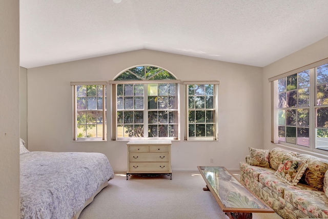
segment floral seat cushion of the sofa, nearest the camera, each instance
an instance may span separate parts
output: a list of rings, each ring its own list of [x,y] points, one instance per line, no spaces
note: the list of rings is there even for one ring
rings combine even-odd
[[[284,199],[310,218],[328,218],[328,197],[321,191],[285,189]]]

